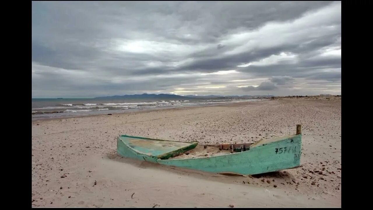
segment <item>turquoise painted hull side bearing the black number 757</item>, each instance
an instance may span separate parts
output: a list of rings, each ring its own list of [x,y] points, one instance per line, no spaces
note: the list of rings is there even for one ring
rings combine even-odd
[[[214,173],[254,175],[300,166],[301,136],[261,142],[249,151],[216,157],[157,160],[157,163]]]

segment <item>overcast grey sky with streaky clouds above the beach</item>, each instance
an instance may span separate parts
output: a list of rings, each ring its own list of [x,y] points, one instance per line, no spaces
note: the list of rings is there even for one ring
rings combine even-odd
[[[341,2],[32,2],[32,97],[341,94]]]

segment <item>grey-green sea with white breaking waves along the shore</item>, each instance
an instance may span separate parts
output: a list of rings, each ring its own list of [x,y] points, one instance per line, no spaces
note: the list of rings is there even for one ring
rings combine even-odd
[[[212,106],[260,99],[188,98],[170,99],[32,99],[32,120],[70,116],[133,112],[187,106]]]

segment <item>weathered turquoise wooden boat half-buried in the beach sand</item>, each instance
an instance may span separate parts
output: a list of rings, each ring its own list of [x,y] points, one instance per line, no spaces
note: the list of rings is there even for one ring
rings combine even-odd
[[[167,166],[222,174],[254,175],[300,166],[301,125],[295,135],[262,139],[256,143],[198,145],[121,135],[120,156]]]

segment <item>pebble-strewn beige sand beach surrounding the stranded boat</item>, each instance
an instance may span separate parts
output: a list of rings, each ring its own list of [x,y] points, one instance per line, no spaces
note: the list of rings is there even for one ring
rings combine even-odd
[[[34,121],[32,207],[341,207],[341,98],[319,98]],[[244,143],[293,134],[296,124],[302,167],[261,176],[116,155],[120,134]]]

